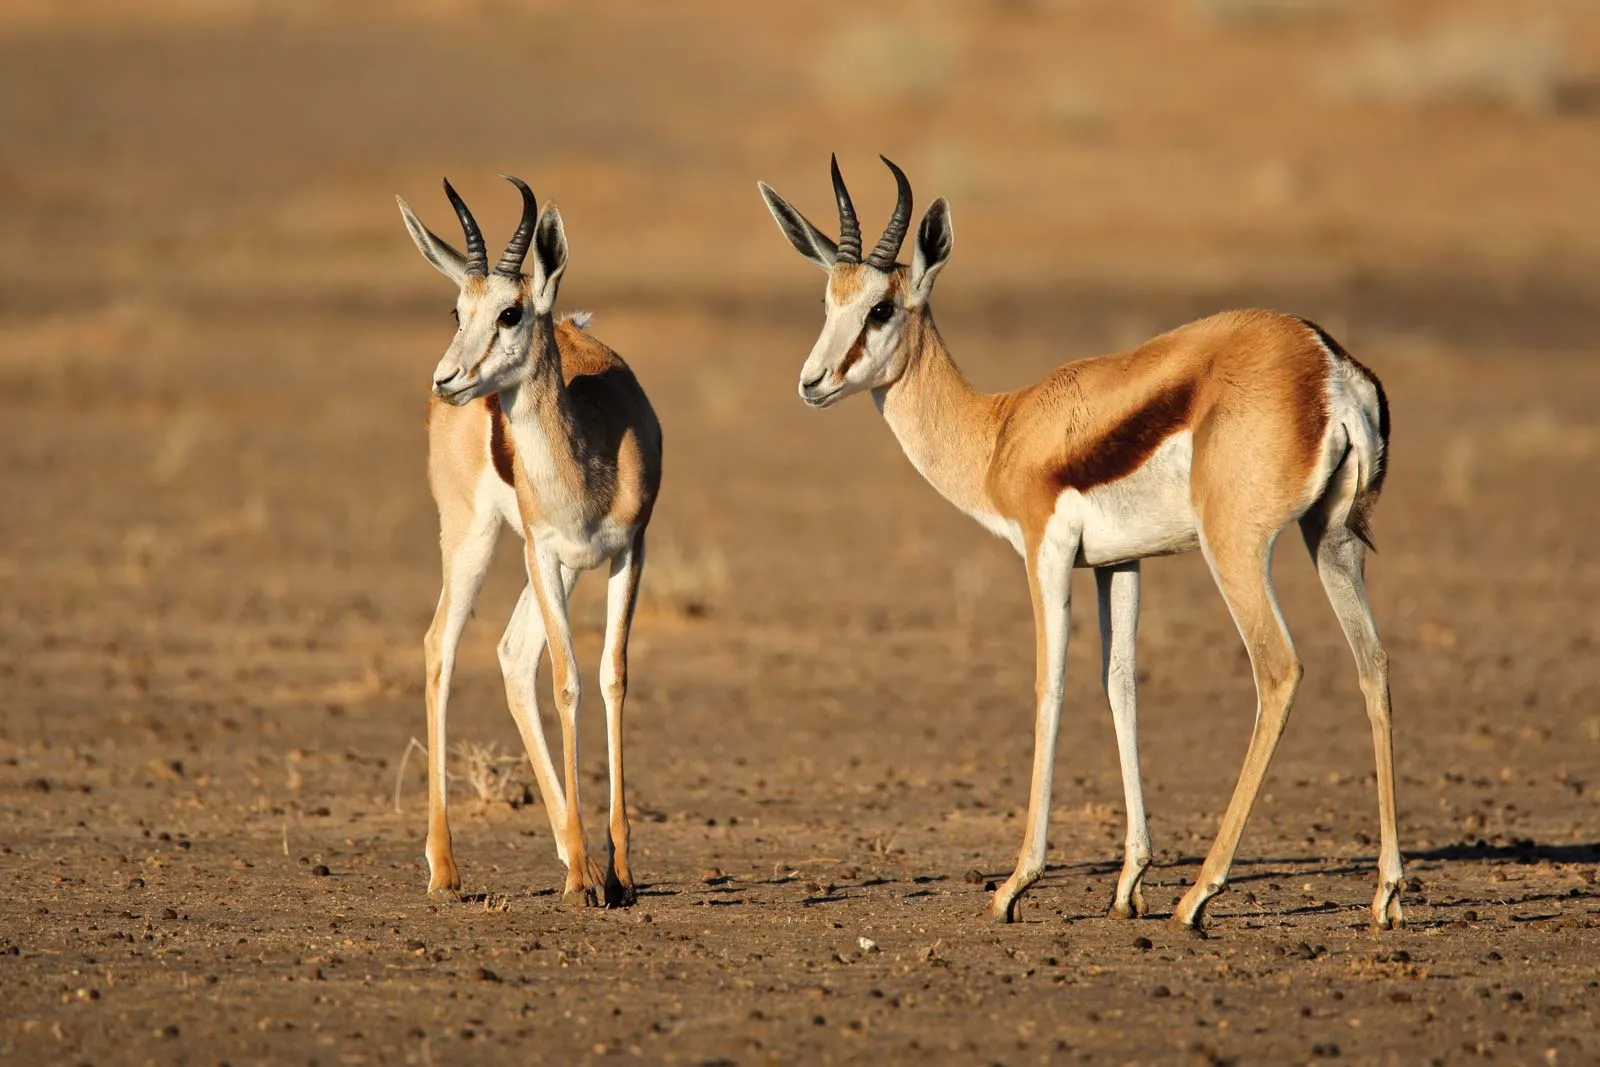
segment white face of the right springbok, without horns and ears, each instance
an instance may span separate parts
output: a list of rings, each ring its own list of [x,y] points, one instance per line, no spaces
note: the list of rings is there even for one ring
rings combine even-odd
[[[822,294],[822,333],[800,368],[800,398],[829,408],[851,394],[891,386],[906,370],[906,272],[834,264]]]

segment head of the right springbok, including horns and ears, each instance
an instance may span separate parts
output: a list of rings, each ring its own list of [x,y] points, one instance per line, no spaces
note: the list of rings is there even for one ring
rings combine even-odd
[[[894,261],[910,224],[910,182],[894,163],[886,158],[883,163],[894,174],[899,195],[883,237],[866,259],[861,258],[861,224],[838,173],[838,157],[832,160],[838,243],[766,182],[757,182],[789,243],[827,272],[822,333],[800,368],[800,398],[813,408],[832,406],[864,389],[883,389],[906,373],[912,326],[926,317],[933,280],[950,258],[950,205],[939,197],[917,227],[910,267]]]

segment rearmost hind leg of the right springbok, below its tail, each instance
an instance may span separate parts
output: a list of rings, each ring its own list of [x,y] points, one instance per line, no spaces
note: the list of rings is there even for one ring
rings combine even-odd
[[[1403,921],[1400,881],[1400,832],[1395,827],[1395,753],[1389,717],[1389,654],[1378,641],[1373,608],[1366,603],[1363,566],[1366,545],[1342,523],[1323,526],[1317,518],[1301,522],[1306,547],[1317,561],[1317,574],[1328,593],[1333,613],[1339,616],[1344,637],[1355,654],[1355,670],[1366,697],[1366,718],[1373,725],[1373,750],[1378,760],[1378,893],[1373,896],[1373,923],[1389,929]]]

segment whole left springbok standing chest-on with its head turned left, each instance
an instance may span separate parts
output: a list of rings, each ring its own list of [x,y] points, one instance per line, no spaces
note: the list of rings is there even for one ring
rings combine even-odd
[[[445,709],[461,630],[483,587],[501,523],[523,539],[528,584],[499,643],[506,699],[522,731],[539,793],[566,864],[566,897],[610,905],[634,901],[622,789],[622,701],[627,637],[645,568],[645,525],[661,486],[661,426],[627,365],[595,341],[587,317],[555,320],[566,269],[566,230],[555,205],[542,213],[528,186],[522,222],[494,270],[483,232],[445,182],[467,251],[422,226],[405,200],[400,214],[422,258],[459,286],[456,336],[434,371],[427,410],[429,485],[438,504],[445,577],[427,629],[427,865],[429,894],[461,891],[445,809]],[[398,198],[397,198],[398,200]],[[522,270],[533,245],[533,275]],[[610,864],[589,859],[578,803],[578,661],[566,600],[579,571],[610,565],[600,694],[611,773]],[[539,723],[534,683],[546,638],[562,721],[565,790]]]

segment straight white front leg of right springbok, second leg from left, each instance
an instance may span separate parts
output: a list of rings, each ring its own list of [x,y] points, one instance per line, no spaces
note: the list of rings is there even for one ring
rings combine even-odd
[[[1144,872],[1150,865],[1150,827],[1139,782],[1139,707],[1134,693],[1134,645],[1139,630],[1139,561],[1094,568],[1101,616],[1101,685],[1117,728],[1122,795],[1128,806],[1128,840],[1122,877],[1110,902],[1112,918],[1144,915]]]

